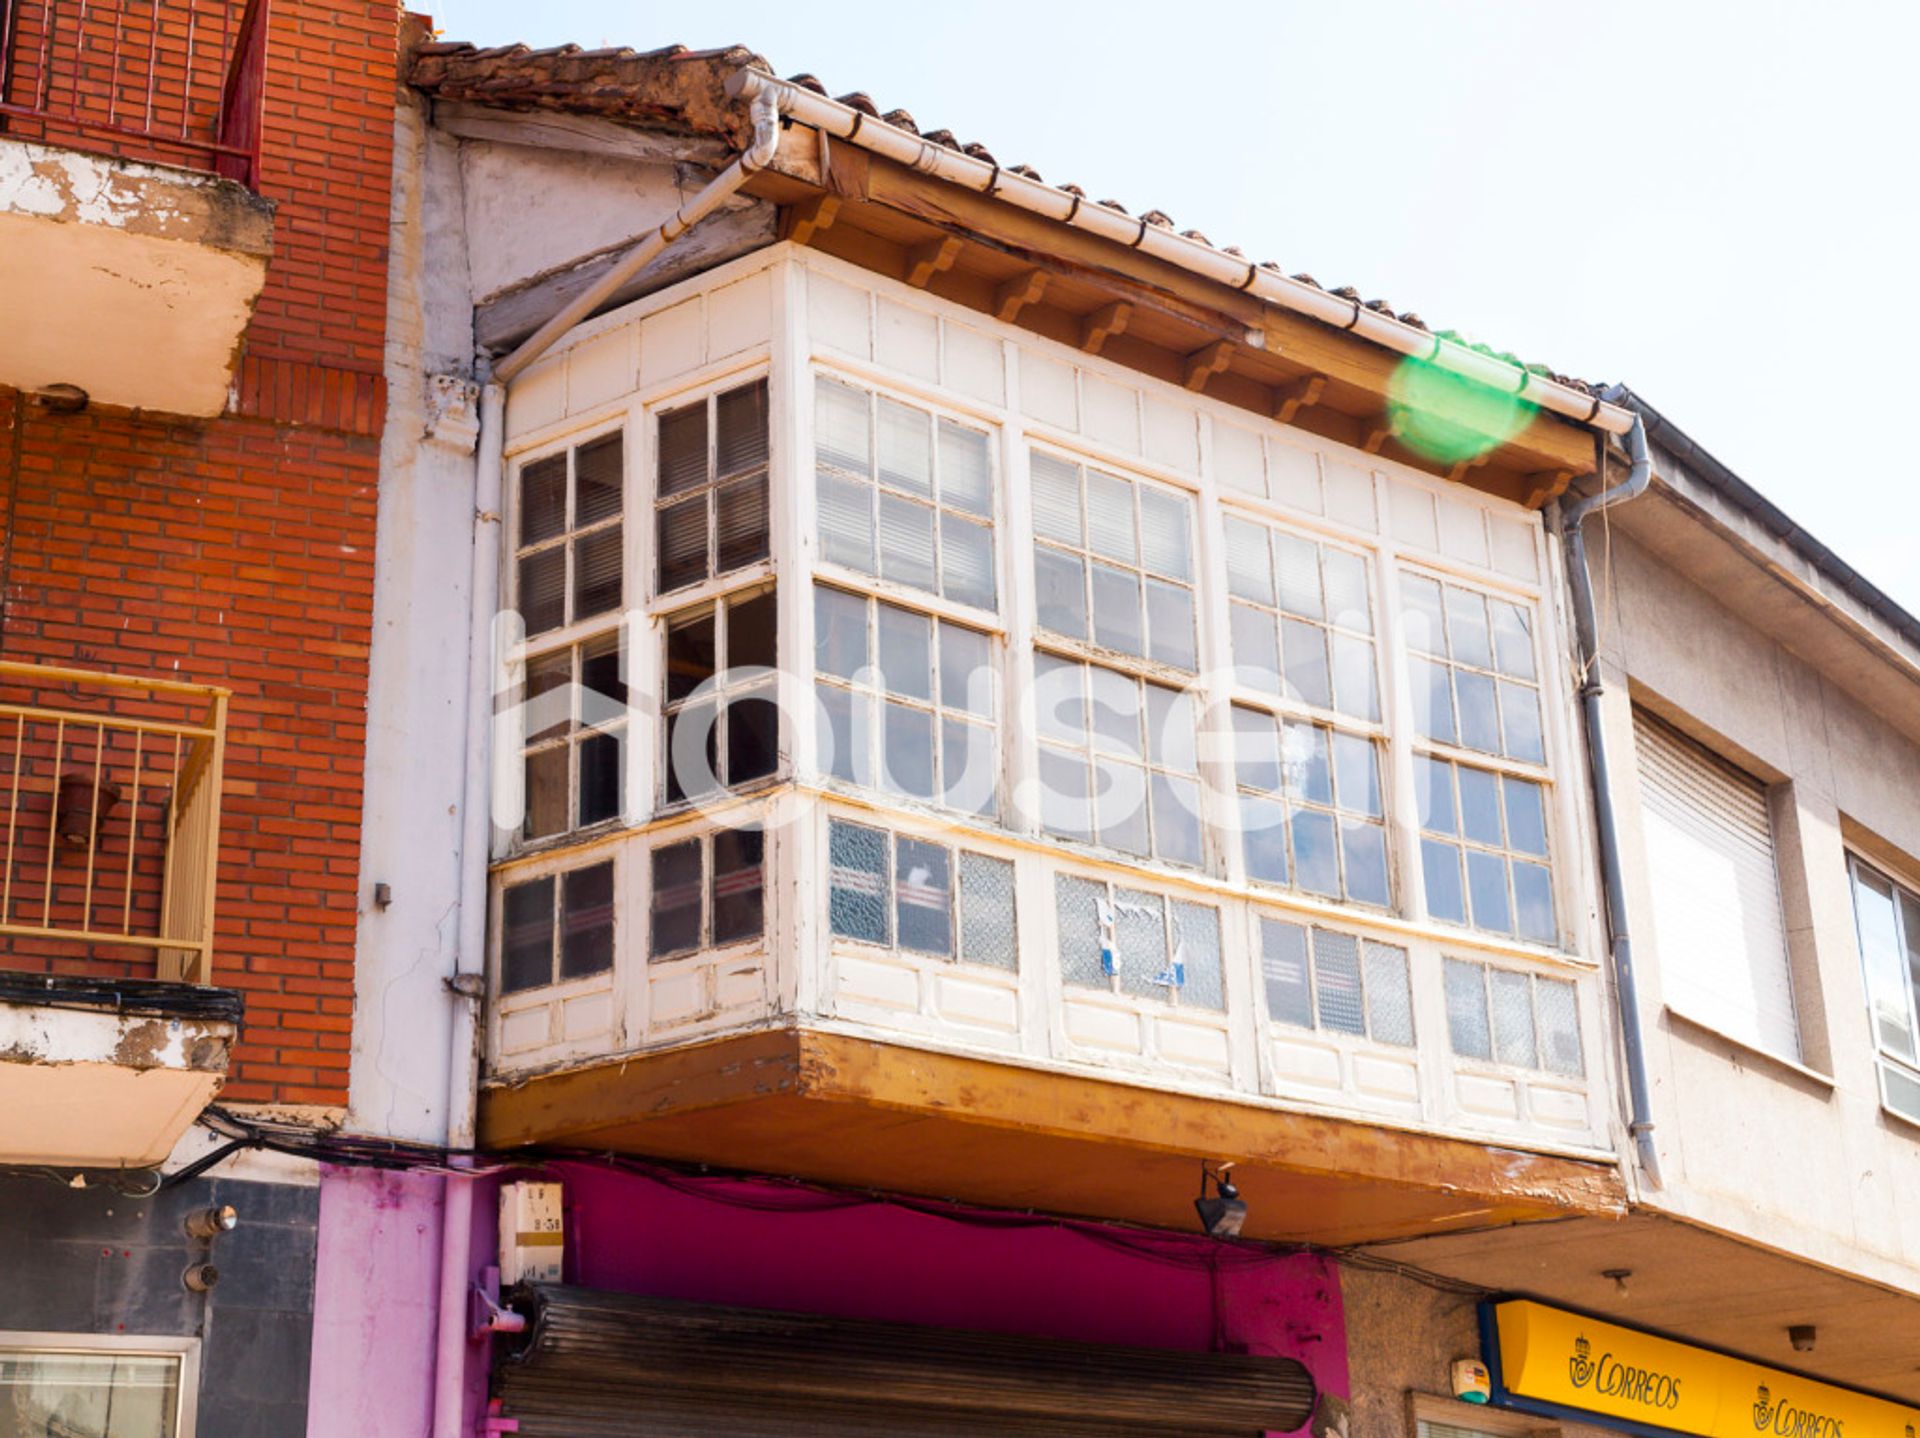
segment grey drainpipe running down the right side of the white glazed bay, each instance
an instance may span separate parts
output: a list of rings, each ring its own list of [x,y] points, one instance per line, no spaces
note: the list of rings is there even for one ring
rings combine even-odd
[[[1620,386],[1607,390],[1607,399],[1622,395]],[[1597,443],[1605,445],[1605,438]],[[1620,874],[1620,829],[1613,812],[1613,779],[1607,770],[1607,737],[1601,724],[1599,699],[1599,620],[1594,609],[1594,576],[1586,566],[1586,534],[1582,522],[1603,509],[1624,505],[1645,493],[1653,482],[1653,459],[1647,451],[1647,428],[1634,415],[1626,432],[1626,455],[1632,468],[1626,480],[1588,495],[1561,516],[1561,538],[1567,543],[1567,582],[1572,589],[1574,639],[1580,651],[1580,716],[1586,724],[1586,755],[1594,781],[1594,822],[1599,829],[1599,877],[1607,891],[1607,933],[1613,952],[1613,993],[1620,1018],[1620,1044],[1626,1050],[1626,1096],[1632,1114],[1626,1131],[1634,1135],[1640,1167],[1657,1188],[1661,1158],[1653,1144],[1653,1104],[1647,1094],[1647,1054],[1640,1033],[1640,985],[1634,977],[1634,941],[1626,927],[1626,881]]]

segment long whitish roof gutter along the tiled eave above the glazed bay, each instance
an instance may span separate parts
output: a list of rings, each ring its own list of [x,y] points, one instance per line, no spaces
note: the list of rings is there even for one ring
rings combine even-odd
[[[1171,228],[1148,225],[1144,219],[1121,215],[1117,209],[1083,200],[1077,194],[1056,190],[1025,175],[989,159],[975,159],[958,150],[948,150],[933,140],[924,140],[910,131],[874,119],[839,100],[828,100],[799,84],[774,79],[755,69],[737,71],[728,81],[730,94],[755,100],[762,94],[780,96],[780,108],[801,121],[828,134],[885,156],[922,175],[977,190],[993,200],[1004,200],[1044,219],[1071,225],[1073,228],[1098,234],[1102,240],[1139,250],[1142,255],[1164,259],[1185,271],[1200,275],[1231,290],[1258,296],[1281,309],[1317,319],[1336,330],[1348,330],[1361,340],[1371,340],[1384,349],[1425,359],[1444,371],[1476,380],[1492,390],[1515,394],[1530,405],[1563,415],[1580,424],[1592,424],[1607,434],[1626,434],[1634,428],[1634,417],[1620,405],[1611,405],[1584,390],[1574,390],[1559,380],[1511,365],[1478,349],[1442,340],[1415,324],[1367,309],[1359,300],[1344,300],[1317,286],[1294,280],[1279,271],[1263,269],[1238,255],[1229,255],[1200,240],[1188,240]]]

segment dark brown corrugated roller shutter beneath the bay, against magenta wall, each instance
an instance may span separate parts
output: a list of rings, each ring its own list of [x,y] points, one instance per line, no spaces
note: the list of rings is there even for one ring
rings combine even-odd
[[[1181,1354],[534,1286],[493,1363],[522,1438],[1258,1438],[1313,1413],[1284,1357]]]

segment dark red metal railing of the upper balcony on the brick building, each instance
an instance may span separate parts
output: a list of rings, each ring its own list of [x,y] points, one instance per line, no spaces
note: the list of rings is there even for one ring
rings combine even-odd
[[[0,0],[15,138],[190,165],[259,188],[267,0]]]

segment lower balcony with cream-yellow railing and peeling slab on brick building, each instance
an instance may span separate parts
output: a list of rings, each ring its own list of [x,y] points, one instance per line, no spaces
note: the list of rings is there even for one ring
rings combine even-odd
[[[0,662],[0,1163],[157,1163],[219,1090],[225,735],[225,689]]]

